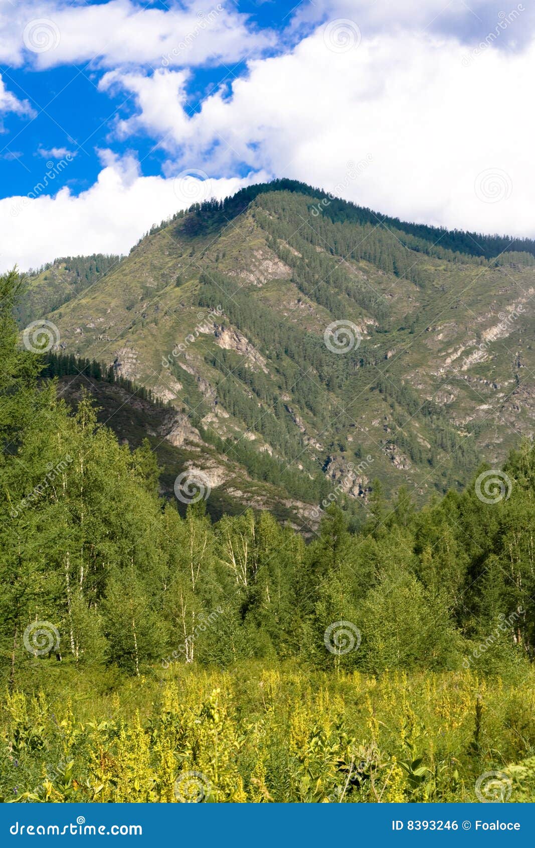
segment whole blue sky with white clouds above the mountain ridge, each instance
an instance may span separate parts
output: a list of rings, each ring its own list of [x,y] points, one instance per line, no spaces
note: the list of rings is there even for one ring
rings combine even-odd
[[[274,176],[533,236],[533,17],[488,0],[0,0],[0,268],[125,252],[192,199]]]

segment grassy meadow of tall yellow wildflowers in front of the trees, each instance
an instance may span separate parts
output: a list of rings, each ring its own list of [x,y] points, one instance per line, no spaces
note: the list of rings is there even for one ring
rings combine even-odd
[[[36,661],[3,700],[4,801],[534,801],[535,675]],[[31,692],[36,692],[32,695]]]

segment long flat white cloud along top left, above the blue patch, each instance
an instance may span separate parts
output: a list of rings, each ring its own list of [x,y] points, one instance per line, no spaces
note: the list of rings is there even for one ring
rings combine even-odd
[[[0,0],[0,3],[2,0]],[[180,67],[242,59],[275,36],[255,31],[231,3],[170,3],[168,10],[133,0],[73,6],[66,0],[25,0],[2,14],[0,61],[45,69],[95,60],[102,67]]]

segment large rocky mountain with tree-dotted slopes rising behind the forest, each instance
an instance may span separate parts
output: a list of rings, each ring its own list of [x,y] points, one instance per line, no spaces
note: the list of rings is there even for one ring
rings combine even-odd
[[[408,224],[275,181],[154,226],[76,291],[59,271],[31,288],[67,371],[98,360],[169,404],[154,426],[143,416],[157,407],[135,399],[137,441],[181,452],[162,460],[169,481],[201,469],[211,499],[246,504],[256,488],[256,505],[276,501],[294,523],[331,494],[359,522],[373,481],[425,500],[532,435],[534,266],[528,239]]]

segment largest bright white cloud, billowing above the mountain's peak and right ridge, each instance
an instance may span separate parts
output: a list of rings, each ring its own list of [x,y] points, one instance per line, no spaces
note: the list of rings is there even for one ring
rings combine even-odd
[[[231,175],[245,164],[343,186],[344,197],[405,219],[535,235],[535,45],[476,55],[453,39],[405,33],[363,36],[345,50],[329,33],[320,27],[292,53],[250,62],[231,98],[216,92],[192,117],[180,71],[115,71],[102,86],[134,92],[139,114],[118,130],[151,133],[179,167]],[[347,163],[367,157],[371,165],[348,180]],[[510,181],[501,203],[475,189],[487,170]]]

